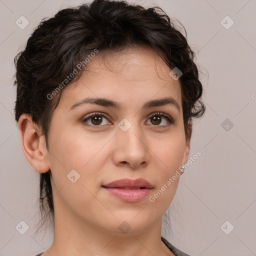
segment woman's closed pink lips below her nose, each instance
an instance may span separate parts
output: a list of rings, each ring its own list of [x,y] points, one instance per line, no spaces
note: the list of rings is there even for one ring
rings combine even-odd
[[[137,202],[147,197],[153,186],[142,178],[137,179],[118,179],[102,187],[110,194],[126,202]]]

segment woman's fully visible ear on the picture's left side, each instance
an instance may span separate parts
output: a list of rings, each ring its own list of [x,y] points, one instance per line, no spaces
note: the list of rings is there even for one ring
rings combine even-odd
[[[38,125],[32,121],[32,116],[27,113],[20,115],[18,129],[23,153],[27,161],[38,172],[47,172],[47,149],[45,136],[40,134]]]

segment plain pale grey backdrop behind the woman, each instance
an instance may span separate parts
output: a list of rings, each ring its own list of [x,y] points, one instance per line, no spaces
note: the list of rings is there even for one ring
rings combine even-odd
[[[88,1],[0,0],[0,255],[34,255],[52,242],[50,228],[33,234],[39,173],[23,155],[14,121],[13,58],[43,17],[82,2]],[[172,234],[162,234],[192,256],[256,255],[256,0],[136,3],[156,4],[184,25],[206,105],[191,138],[190,156],[201,156],[181,176],[169,207]],[[29,22],[23,29],[15,23],[20,16]],[[15,228],[21,220],[29,226],[24,234]]]

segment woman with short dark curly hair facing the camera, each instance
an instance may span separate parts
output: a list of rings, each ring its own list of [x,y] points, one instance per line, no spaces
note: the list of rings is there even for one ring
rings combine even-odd
[[[58,11],[15,57],[22,150],[40,173],[37,255],[188,255],[161,220],[189,155],[202,85],[159,8],[94,0]]]

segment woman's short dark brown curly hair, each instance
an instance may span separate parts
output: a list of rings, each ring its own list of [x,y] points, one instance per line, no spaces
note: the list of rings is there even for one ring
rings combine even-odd
[[[175,28],[160,7],[145,8],[126,1],[93,0],[90,4],[59,10],[54,17],[40,22],[25,49],[14,58],[15,120],[18,121],[22,113],[31,114],[47,145],[51,115],[61,91],[52,99],[46,95],[94,49],[117,51],[132,44],[150,46],[171,69],[177,67],[182,71],[179,81],[183,122],[185,136],[190,137],[191,120],[203,115],[205,105],[200,99],[202,84],[186,34],[184,37]],[[71,81],[78,79],[81,72],[82,69]],[[54,215],[49,171],[40,173],[42,224],[49,213]]]

